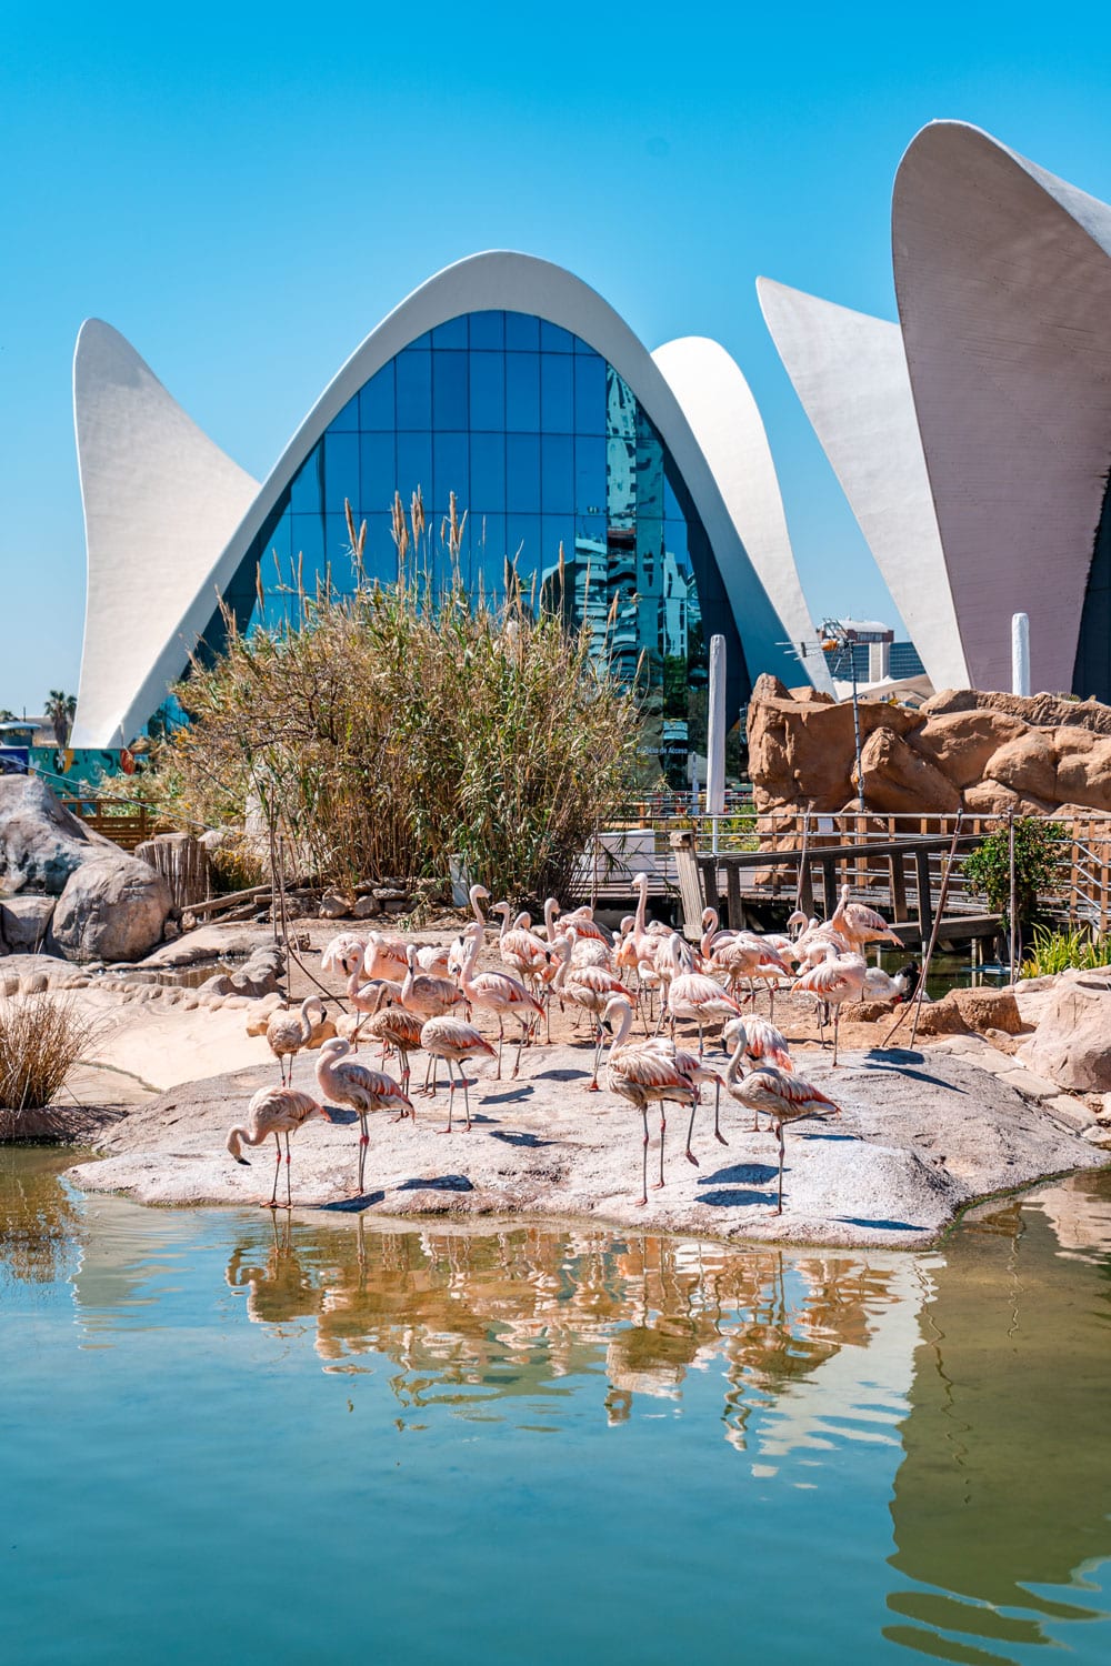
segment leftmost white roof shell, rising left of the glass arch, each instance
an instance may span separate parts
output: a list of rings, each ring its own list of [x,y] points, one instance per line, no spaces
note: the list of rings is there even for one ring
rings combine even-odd
[[[133,738],[185,670],[182,618],[208,608],[213,551],[258,496],[110,325],[82,325],[73,355],[87,603],[73,746]],[[137,718],[137,713],[142,716]]]

